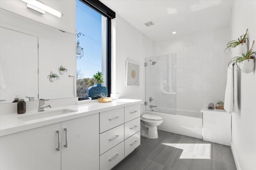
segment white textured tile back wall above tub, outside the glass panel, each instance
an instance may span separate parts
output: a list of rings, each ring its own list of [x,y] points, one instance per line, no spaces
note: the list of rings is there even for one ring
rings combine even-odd
[[[174,37],[177,35],[174,35]],[[178,110],[200,112],[204,104],[224,101],[230,28],[221,27],[155,43],[155,56],[176,53]]]

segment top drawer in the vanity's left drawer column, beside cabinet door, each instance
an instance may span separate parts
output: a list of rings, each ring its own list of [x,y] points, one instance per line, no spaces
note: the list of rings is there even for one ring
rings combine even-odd
[[[124,107],[100,112],[100,133],[124,123]]]

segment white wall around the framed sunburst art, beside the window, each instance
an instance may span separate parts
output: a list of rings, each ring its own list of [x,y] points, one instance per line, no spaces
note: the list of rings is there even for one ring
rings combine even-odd
[[[144,100],[145,41],[154,42],[116,15],[112,21],[112,93],[119,93],[120,98]],[[126,61],[140,64],[140,86],[126,86]]]

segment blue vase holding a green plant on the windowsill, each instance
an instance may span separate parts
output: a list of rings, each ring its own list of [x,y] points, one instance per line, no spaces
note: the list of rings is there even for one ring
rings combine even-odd
[[[98,71],[93,75],[93,78],[95,79],[95,84],[94,86],[88,88],[88,97],[92,100],[106,97],[107,88],[102,86],[102,83],[104,83],[102,72]]]

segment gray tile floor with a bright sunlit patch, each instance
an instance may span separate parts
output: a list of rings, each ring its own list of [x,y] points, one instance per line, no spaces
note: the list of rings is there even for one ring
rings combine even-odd
[[[236,170],[230,147],[158,130],[112,170]]]

